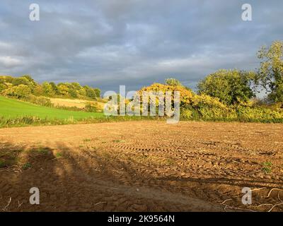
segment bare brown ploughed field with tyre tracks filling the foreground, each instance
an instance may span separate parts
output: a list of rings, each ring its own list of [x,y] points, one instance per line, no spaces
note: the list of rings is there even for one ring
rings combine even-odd
[[[0,129],[0,211],[282,211],[282,151],[282,124]],[[31,187],[40,205],[30,205]]]

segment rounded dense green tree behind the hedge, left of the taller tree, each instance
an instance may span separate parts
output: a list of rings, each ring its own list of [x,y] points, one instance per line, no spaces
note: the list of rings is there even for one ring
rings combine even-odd
[[[198,93],[217,97],[227,105],[247,102],[255,93],[251,83],[255,73],[237,70],[219,70],[198,83]]]

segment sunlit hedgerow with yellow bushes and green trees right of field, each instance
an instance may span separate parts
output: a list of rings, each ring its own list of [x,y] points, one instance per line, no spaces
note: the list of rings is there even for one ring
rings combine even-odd
[[[197,84],[196,92],[175,78],[139,90],[180,92],[184,120],[283,122],[283,42],[275,41],[258,52],[255,71],[221,69]],[[265,99],[256,98],[266,93]]]

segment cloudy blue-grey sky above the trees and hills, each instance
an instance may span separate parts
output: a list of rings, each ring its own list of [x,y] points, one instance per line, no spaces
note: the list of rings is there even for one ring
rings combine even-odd
[[[282,16],[282,0],[1,0],[0,74],[103,92],[165,78],[195,88],[218,69],[257,69],[258,49],[283,40]]]

